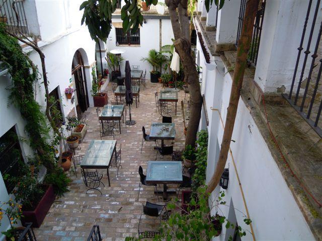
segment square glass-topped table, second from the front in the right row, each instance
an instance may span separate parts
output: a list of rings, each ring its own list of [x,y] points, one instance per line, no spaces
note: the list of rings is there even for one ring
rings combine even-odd
[[[169,131],[167,131],[169,129]],[[150,130],[151,140],[161,140],[161,147],[164,147],[164,140],[175,140],[176,130],[174,123],[152,123]]]

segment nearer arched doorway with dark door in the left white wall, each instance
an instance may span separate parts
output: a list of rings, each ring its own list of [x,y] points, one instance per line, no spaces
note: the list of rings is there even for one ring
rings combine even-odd
[[[89,105],[89,96],[87,90],[84,60],[81,52],[77,50],[72,58],[71,76],[75,87],[75,104],[77,115],[87,110]]]

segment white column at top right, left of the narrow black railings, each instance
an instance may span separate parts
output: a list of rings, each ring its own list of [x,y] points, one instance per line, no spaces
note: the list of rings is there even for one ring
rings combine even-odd
[[[225,1],[218,11],[216,41],[218,44],[234,44],[238,28],[240,0]]]

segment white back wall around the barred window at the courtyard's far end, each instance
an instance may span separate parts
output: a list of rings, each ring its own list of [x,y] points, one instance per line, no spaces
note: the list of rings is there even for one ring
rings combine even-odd
[[[121,19],[113,19],[113,23],[121,22]],[[162,46],[167,44],[172,44],[173,31],[170,19],[162,20]],[[141,58],[147,57],[148,51],[150,49],[155,49],[159,51],[159,19],[146,19],[146,24],[143,24],[143,27],[140,28],[140,45],[120,45],[116,46],[116,36],[115,28],[113,26],[110,36],[107,41],[107,50],[113,49],[123,49],[125,53],[122,54],[122,57],[125,60],[129,60],[130,66],[139,65],[140,69],[143,71],[146,69],[146,72],[152,70],[152,67],[141,61]],[[124,73],[125,61],[121,65],[121,72]],[[149,79],[150,75],[147,74],[146,78]]]

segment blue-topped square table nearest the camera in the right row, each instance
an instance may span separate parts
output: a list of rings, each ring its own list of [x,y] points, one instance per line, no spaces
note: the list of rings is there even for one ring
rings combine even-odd
[[[182,163],[178,161],[148,161],[147,184],[163,184],[163,198],[167,200],[167,184],[182,183]]]

